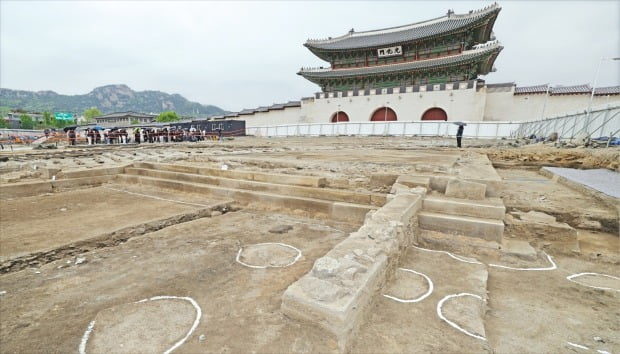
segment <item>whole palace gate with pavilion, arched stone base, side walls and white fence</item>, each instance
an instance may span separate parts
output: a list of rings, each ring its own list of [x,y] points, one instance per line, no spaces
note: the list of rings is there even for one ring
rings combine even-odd
[[[618,134],[620,86],[518,87],[479,79],[495,71],[503,49],[493,34],[500,10],[493,4],[465,14],[448,11],[409,25],[308,40],[304,46],[329,67],[297,74],[321,92],[216,119],[245,120],[248,134],[263,136],[452,135],[454,121],[477,126],[465,134],[476,137],[514,136],[518,129],[556,131],[560,138],[584,130],[592,137]],[[524,121],[552,117],[546,130],[524,130]],[[443,124],[424,124],[429,121]]]

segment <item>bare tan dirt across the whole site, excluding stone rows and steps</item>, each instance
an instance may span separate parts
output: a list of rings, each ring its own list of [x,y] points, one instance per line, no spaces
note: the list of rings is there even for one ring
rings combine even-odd
[[[496,147],[485,143],[464,152],[451,144],[383,137],[247,138],[223,144],[3,152],[0,157],[8,161],[0,162],[0,184],[43,180],[44,168],[89,169],[140,161],[322,176],[331,188],[386,193],[373,185],[373,174],[449,174],[465,153],[486,153],[502,179],[500,196],[507,212],[544,212],[569,224],[577,230],[581,252],[554,253],[531,235],[508,233],[505,237],[528,240],[538,251],[535,260],[517,259],[510,266],[548,267],[544,250],[557,264],[552,270],[521,271],[490,266],[508,263],[485,253],[461,254],[480,262],[470,264],[410,247],[398,266],[427,275],[433,292],[417,303],[377,294],[351,351],[620,352],[620,292],[566,279],[584,272],[620,277],[618,211],[537,173],[543,165],[617,170],[613,157],[619,150],[509,148],[496,142]],[[79,252],[59,251],[45,262],[0,274],[0,352],[76,352],[93,320],[86,352],[164,351],[172,346],[171,338],[192,326],[195,311],[179,299],[136,303],[157,296],[191,298],[200,307],[201,318],[175,349],[178,353],[337,351],[319,328],[284,316],[281,296],[360,225],[248,208],[196,214],[226,202],[231,201],[113,184],[1,200],[0,263],[73,249],[92,237],[114,237],[120,229],[126,236],[113,243],[99,240],[76,249]],[[181,218],[187,214],[195,216]],[[161,224],[163,219],[172,222]],[[152,223],[159,224],[149,228]],[[254,246],[262,243],[271,245]],[[295,260],[292,248],[276,243],[299,249],[301,257]],[[488,272],[486,283],[476,272]],[[384,293],[418,296],[426,291],[420,279],[394,276]],[[620,289],[620,281],[612,278],[584,278],[582,283]],[[462,292],[487,298],[482,322],[465,324],[476,331],[483,324],[486,341],[465,335],[437,315],[442,298]],[[166,328],[172,327],[176,331],[170,334]],[[152,346],[140,346],[145,341]]]

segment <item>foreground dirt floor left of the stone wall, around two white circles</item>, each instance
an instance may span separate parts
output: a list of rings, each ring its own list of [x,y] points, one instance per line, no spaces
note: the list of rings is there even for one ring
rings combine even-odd
[[[248,224],[253,226],[242,227]],[[269,232],[274,225],[292,229]],[[243,210],[92,251],[81,264],[62,260],[3,275],[2,351],[75,352],[99,311],[161,295],[191,297],[202,308],[203,320],[179,352],[333,350],[311,329],[286,319],[280,299],[316,258],[357,227]],[[286,268],[253,269],[235,261],[240,247],[264,242],[290,244],[302,257]]]

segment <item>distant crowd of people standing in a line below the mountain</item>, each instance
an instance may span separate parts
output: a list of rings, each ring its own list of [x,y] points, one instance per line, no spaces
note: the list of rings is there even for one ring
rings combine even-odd
[[[88,145],[95,144],[127,144],[127,143],[168,143],[168,142],[196,142],[204,140],[222,140],[222,131],[218,130],[217,135],[208,134],[206,130],[196,128],[177,129],[174,127],[165,128],[135,128],[130,134],[123,128],[94,129],[88,128],[83,134]],[[75,130],[67,131],[67,138],[70,145],[75,145],[77,136]]]

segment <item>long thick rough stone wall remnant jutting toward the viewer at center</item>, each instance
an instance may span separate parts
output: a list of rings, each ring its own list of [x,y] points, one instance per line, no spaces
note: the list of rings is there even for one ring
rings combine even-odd
[[[409,244],[422,196],[402,193],[366,216],[364,225],[324,257],[282,296],[282,312],[325,329],[347,351],[374,296]]]

